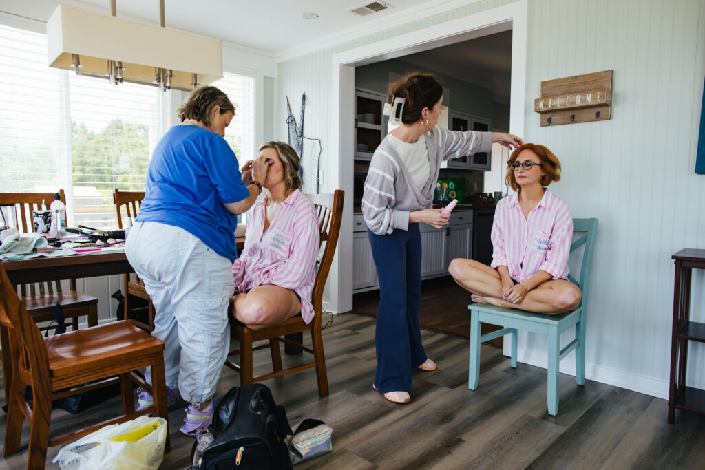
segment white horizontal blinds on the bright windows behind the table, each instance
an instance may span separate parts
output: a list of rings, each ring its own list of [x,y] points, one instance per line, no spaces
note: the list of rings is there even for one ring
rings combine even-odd
[[[181,94],[49,68],[46,49],[44,34],[0,24],[0,191],[62,188],[71,225],[116,228],[112,194],[145,190]],[[214,85],[238,103],[226,140],[242,166],[255,155],[255,80],[226,74]]]

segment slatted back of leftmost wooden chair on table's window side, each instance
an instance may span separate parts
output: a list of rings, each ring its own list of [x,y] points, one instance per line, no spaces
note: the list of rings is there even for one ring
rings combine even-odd
[[[66,206],[66,193],[59,190],[61,202]],[[34,221],[32,220],[32,211],[49,210],[51,202],[54,201],[53,192],[4,192],[0,193],[0,204],[14,204],[15,214],[17,216],[18,230],[21,233],[30,233],[35,231]],[[68,225],[68,221],[66,222]],[[76,290],[76,280],[69,279],[69,290]],[[61,281],[55,280],[54,283],[32,283],[20,285],[20,295],[44,295],[61,292]]]

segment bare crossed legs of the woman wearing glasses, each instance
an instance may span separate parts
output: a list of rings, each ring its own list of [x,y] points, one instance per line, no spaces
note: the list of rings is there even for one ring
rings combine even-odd
[[[460,287],[472,292],[473,302],[555,315],[575,309],[582,298],[580,289],[569,280],[551,279],[529,290],[521,302],[513,304],[502,295],[496,269],[472,259],[456,258],[450,262],[448,271]]]

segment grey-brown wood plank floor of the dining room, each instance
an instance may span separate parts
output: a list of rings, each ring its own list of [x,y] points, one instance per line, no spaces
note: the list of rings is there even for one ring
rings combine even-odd
[[[333,452],[297,469],[704,468],[704,417],[677,411],[675,425],[669,425],[665,400],[591,381],[580,387],[563,374],[559,414],[550,416],[543,369],[525,364],[511,369],[501,350],[483,346],[479,388],[473,392],[467,389],[467,340],[429,330],[422,337],[439,369],[415,371],[410,404],[391,404],[372,390],[369,316],[335,316],[324,330],[329,397],[319,399],[311,370],[265,382],[292,425],[314,416],[333,428]],[[268,361],[265,350],[255,353],[256,369],[266,370]],[[237,375],[225,369],[219,394],[237,383]],[[98,421],[119,409],[116,398],[78,415],[55,410],[54,429]],[[162,468],[180,469],[188,466],[193,441],[178,431],[183,411],[169,419],[172,451]],[[0,412],[0,435],[5,422]],[[26,425],[23,431],[23,454],[0,459],[0,468],[23,468]],[[58,450],[49,450],[49,462]]]

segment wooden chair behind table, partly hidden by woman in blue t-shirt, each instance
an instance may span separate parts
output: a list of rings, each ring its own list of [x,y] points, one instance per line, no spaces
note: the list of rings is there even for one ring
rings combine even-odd
[[[137,218],[137,212],[142,206],[142,199],[145,199],[145,192],[115,190],[113,202],[118,216],[118,228],[125,228],[123,211],[127,214],[130,227],[135,225],[135,218]],[[149,298],[149,294],[147,294],[145,289],[145,281],[140,278],[130,280],[130,275],[125,273],[123,275],[123,283],[125,286],[123,320],[131,321],[140,328],[151,332],[154,330],[154,304],[152,304],[152,299]],[[130,299],[133,296],[147,301],[147,307],[133,307],[132,299]],[[138,313],[146,313],[149,319],[148,323],[135,319],[134,315]]]

